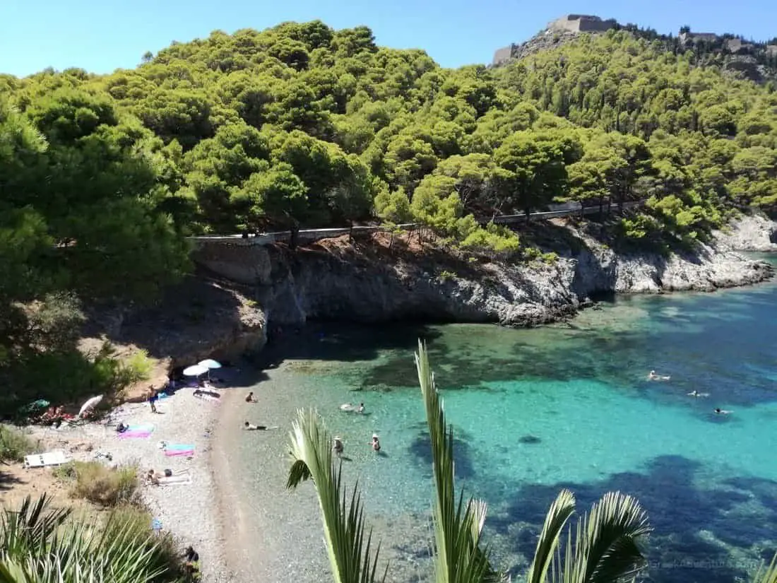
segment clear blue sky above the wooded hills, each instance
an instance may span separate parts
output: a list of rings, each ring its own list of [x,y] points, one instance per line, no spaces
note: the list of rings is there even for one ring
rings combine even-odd
[[[0,72],[30,75],[77,66],[91,72],[131,68],[145,51],[211,30],[264,29],[286,20],[321,19],[334,28],[367,25],[378,44],[421,48],[447,67],[489,62],[573,12],[677,33],[777,36],[774,0],[0,0]]]

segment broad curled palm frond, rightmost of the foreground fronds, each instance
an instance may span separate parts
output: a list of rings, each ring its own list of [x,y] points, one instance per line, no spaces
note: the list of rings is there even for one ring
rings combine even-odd
[[[608,492],[580,518],[574,537],[570,532],[563,583],[613,583],[637,574],[646,562],[640,543],[651,531],[635,498]]]

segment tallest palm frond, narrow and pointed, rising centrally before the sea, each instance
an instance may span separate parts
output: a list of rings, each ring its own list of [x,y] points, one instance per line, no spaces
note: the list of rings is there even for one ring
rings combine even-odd
[[[486,503],[463,494],[456,499],[454,484],[453,431],[445,424],[440,395],[434,384],[427,348],[418,341],[416,370],[432,450],[434,504],[434,572],[437,583],[479,583],[502,578],[491,567],[489,553],[480,547]]]

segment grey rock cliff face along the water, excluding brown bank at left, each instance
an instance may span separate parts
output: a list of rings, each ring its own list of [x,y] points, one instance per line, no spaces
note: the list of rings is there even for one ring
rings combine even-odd
[[[618,255],[583,232],[566,229],[567,243],[556,249],[560,257],[550,264],[455,262],[443,255],[389,253],[375,242],[352,246],[345,239],[294,253],[222,246],[201,250],[195,261],[253,286],[271,325],[433,319],[531,326],[571,315],[602,292],[713,291],[768,279],[768,264],[733,251],[760,248],[768,224],[773,227],[763,220],[734,225],[715,248],[668,259]]]

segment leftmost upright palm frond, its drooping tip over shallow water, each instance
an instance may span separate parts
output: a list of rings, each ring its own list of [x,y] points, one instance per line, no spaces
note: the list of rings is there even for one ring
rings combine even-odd
[[[358,485],[347,499],[342,463],[332,456],[332,440],[321,417],[312,410],[298,410],[289,435],[292,464],[287,488],[313,480],[319,497],[329,563],[336,583],[378,581],[378,553],[373,552],[372,532],[366,532],[364,504]],[[365,536],[366,533],[366,536]],[[386,567],[388,571],[388,567]],[[381,581],[385,579],[385,572]]]

